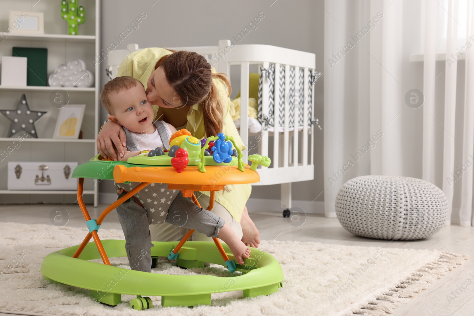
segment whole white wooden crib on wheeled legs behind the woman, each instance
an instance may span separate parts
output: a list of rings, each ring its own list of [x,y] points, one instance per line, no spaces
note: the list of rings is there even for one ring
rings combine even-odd
[[[115,77],[123,58],[138,50],[138,45],[129,44],[127,48],[108,55],[110,79]],[[201,54],[217,72],[226,73],[229,78],[230,66],[240,65],[240,137],[248,148],[244,151],[244,160],[247,160],[249,150],[271,157],[270,168],[259,169],[261,181],[253,185],[281,184],[283,216],[289,217],[292,182],[314,179],[314,124],[318,120],[312,114],[314,82],[320,75],[314,69],[315,54],[271,45],[231,46],[229,40],[220,40],[218,46],[167,48]],[[262,130],[249,133],[249,67],[254,64],[260,65],[259,120]],[[269,84],[272,82],[274,85]],[[318,127],[321,128],[319,124]],[[273,145],[271,152],[269,145]]]

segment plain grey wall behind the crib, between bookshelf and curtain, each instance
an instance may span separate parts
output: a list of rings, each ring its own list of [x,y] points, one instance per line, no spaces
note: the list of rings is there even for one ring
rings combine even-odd
[[[324,1],[322,1],[324,3]],[[125,30],[141,12],[146,18],[122,43],[114,36]],[[179,47],[217,45],[219,39],[231,39],[259,12],[265,17],[240,44],[267,44],[316,54],[316,68],[323,70],[324,8],[314,0],[264,1],[184,1],[184,0],[103,0],[101,12],[102,48],[113,41],[118,49],[129,43],[139,47]],[[136,28],[136,27],[135,27]],[[105,82],[105,63],[101,64]],[[231,70],[232,73],[232,70]],[[239,87],[233,83],[233,95]],[[323,118],[324,75],[315,86],[315,117]],[[238,82],[238,81],[237,81]],[[101,119],[106,113],[102,110]],[[313,200],[323,189],[323,131],[315,129],[314,181],[295,183],[293,199]],[[111,181],[100,183],[100,192],[115,192]],[[323,194],[318,198],[323,200]],[[251,198],[280,199],[280,185],[254,186]]]

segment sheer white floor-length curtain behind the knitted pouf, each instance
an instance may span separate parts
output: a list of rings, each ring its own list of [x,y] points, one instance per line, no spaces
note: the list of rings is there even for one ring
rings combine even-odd
[[[447,225],[474,224],[473,2],[325,1],[327,217],[347,180],[379,174],[432,182]]]

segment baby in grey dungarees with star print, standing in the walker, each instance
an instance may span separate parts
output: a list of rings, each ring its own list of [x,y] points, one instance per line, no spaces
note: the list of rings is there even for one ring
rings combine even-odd
[[[123,127],[127,135],[127,151],[121,160],[158,146],[169,149],[170,136],[176,129],[164,121],[153,121],[152,104],[140,81],[133,77],[117,77],[104,85],[100,101],[109,113],[108,118]],[[119,197],[139,183],[116,183]],[[118,219],[125,235],[125,248],[133,270],[151,271],[151,243],[148,225],[170,223],[222,239],[239,264],[248,258],[250,249],[237,238],[224,220],[214,213],[198,208],[179,190],[167,190],[166,184],[152,183],[137,192],[136,199],[128,199],[117,208]],[[140,203],[138,203],[138,201]],[[140,206],[140,204],[143,206]],[[137,264],[136,259],[140,261]]]

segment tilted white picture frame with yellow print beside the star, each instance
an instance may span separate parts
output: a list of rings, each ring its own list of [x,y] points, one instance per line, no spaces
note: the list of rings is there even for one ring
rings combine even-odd
[[[78,139],[85,108],[85,104],[68,104],[60,108],[53,138]]]

